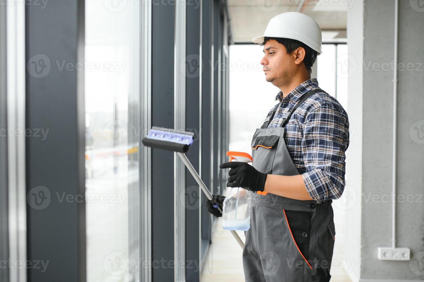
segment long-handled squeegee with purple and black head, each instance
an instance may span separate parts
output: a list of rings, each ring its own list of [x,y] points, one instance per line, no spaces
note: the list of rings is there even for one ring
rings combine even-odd
[[[182,159],[184,165],[188,168],[196,182],[199,184],[199,187],[202,189],[203,193],[206,195],[213,207],[217,208],[220,212],[222,212],[222,209],[218,206],[218,204],[215,203],[212,194],[209,192],[209,189],[206,188],[206,185],[204,184],[196,170],[193,168],[193,165],[190,163],[190,160],[185,154],[188,151],[189,146],[194,141],[193,137],[194,133],[192,132],[152,126],[152,129],[149,131],[147,137],[143,138],[142,143],[145,146],[151,148],[158,148],[176,152]],[[230,230],[230,232],[237,240],[237,243],[240,245],[240,247],[244,248],[244,242],[240,239],[239,235],[234,230]]]

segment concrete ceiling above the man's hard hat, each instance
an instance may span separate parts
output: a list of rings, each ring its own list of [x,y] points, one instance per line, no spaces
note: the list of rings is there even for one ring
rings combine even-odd
[[[251,42],[265,31],[269,20],[299,11],[318,22],[323,42],[346,41],[346,15],[353,0],[228,0],[233,43]]]

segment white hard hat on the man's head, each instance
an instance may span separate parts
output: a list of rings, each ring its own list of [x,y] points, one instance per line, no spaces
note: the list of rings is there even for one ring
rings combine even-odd
[[[298,13],[286,12],[273,17],[262,36],[252,39],[254,43],[264,42],[264,37],[296,39],[321,54],[321,28],[311,17]]]

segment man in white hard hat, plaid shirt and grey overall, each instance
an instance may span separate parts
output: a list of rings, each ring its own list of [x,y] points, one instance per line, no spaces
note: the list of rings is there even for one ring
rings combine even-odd
[[[251,195],[245,281],[329,281],[335,240],[331,203],[345,186],[349,121],[340,103],[310,78],[321,54],[321,29],[304,14],[287,12],[271,19],[253,42],[264,46],[260,63],[266,81],[281,91],[253,135],[253,165],[220,165],[231,168],[227,187],[243,187]],[[221,207],[224,198],[214,195]],[[206,203],[209,212],[221,216],[212,204]]]

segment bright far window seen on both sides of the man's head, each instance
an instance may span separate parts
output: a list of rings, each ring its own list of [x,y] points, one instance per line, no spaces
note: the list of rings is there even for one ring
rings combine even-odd
[[[251,153],[250,141],[255,129],[277,102],[279,89],[265,81],[262,65],[263,46],[231,45],[229,62],[229,109],[231,151]],[[319,86],[337,98],[347,111],[347,70],[354,61],[347,53],[347,45],[323,44],[317,57]],[[254,103],[252,102],[254,101]],[[254,104],[254,106],[252,106]]]

